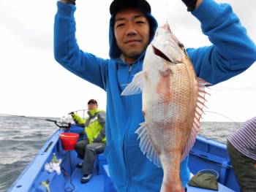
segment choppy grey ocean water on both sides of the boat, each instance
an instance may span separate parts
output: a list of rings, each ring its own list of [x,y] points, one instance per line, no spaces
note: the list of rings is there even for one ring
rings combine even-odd
[[[199,134],[225,143],[240,126],[235,122],[202,122]],[[0,115],[0,192],[10,188],[56,130],[49,121]]]

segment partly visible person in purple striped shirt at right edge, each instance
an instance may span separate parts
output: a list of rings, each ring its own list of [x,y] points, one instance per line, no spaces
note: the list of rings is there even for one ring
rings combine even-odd
[[[227,151],[242,192],[256,191],[256,117],[227,137]]]

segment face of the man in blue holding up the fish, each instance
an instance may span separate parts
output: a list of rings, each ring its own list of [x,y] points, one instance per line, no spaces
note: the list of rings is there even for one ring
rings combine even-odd
[[[149,42],[148,19],[138,9],[124,9],[116,14],[116,44],[128,63],[133,63]]]

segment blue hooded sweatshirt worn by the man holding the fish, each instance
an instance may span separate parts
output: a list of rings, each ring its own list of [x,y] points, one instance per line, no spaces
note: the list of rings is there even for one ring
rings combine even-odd
[[[99,58],[79,49],[75,39],[75,6],[57,3],[54,25],[54,55],[56,61],[107,93],[105,156],[110,176],[118,191],[160,191],[163,172],[140,151],[135,130],[144,122],[141,94],[121,96],[132,77],[142,70],[145,52],[132,66],[121,61],[121,51],[116,45],[113,32],[113,16],[110,18],[110,59]],[[198,77],[217,84],[244,72],[256,60],[256,47],[241,26],[230,5],[203,0],[192,15],[201,23],[213,45],[197,49],[188,48],[187,53]],[[157,22],[146,15],[151,30]],[[151,39],[154,33],[151,33]],[[181,181],[189,180],[188,158],[181,162]]]

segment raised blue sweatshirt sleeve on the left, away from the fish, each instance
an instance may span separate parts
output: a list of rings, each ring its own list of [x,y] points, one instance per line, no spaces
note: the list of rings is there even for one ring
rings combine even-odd
[[[54,22],[54,57],[56,61],[100,88],[105,89],[108,60],[79,49],[75,38],[75,5],[57,2]]]

